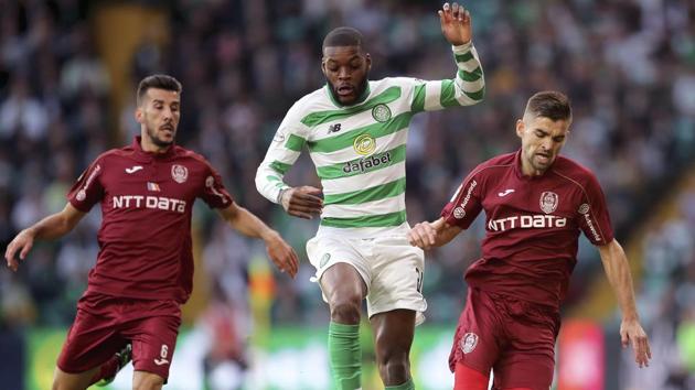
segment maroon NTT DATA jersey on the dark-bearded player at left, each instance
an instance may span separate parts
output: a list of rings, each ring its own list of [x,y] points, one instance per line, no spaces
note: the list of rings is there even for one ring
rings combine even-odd
[[[185,302],[193,286],[191,213],[195,198],[210,207],[234,202],[217,172],[180,147],[163,154],[131,145],[99,155],[67,199],[87,213],[101,203],[99,254],[89,292]]]

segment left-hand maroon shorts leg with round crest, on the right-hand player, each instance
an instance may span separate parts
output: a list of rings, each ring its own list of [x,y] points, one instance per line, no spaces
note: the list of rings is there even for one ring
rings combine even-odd
[[[449,368],[458,364],[488,375],[505,347],[506,336],[499,307],[483,291],[469,288],[449,355]]]

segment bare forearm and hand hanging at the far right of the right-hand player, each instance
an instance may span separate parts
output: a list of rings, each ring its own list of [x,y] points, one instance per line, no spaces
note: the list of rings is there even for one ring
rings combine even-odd
[[[646,333],[640,325],[640,317],[634,303],[634,289],[632,288],[632,275],[624,250],[617,240],[600,246],[599,253],[603,270],[608,277],[610,285],[613,288],[618,304],[622,312],[622,323],[620,324],[620,338],[622,347],[632,345],[634,350],[634,361],[642,367],[649,366],[652,353],[649,347]]]

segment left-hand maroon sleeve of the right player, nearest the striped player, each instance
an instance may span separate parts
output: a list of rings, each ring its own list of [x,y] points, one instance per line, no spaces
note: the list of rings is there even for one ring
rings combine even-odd
[[[482,210],[480,178],[475,173],[474,171],[463,180],[451,201],[441,210],[440,215],[447,224],[468,229]]]

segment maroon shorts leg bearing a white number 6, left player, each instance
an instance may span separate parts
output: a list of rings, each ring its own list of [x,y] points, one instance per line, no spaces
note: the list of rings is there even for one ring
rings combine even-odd
[[[165,383],[181,326],[181,310],[173,301],[154,301],[151,305],[141,308],[152,313],[151,316],[129,322],[122,333],[132,343],[135,370],[156,373]]]

